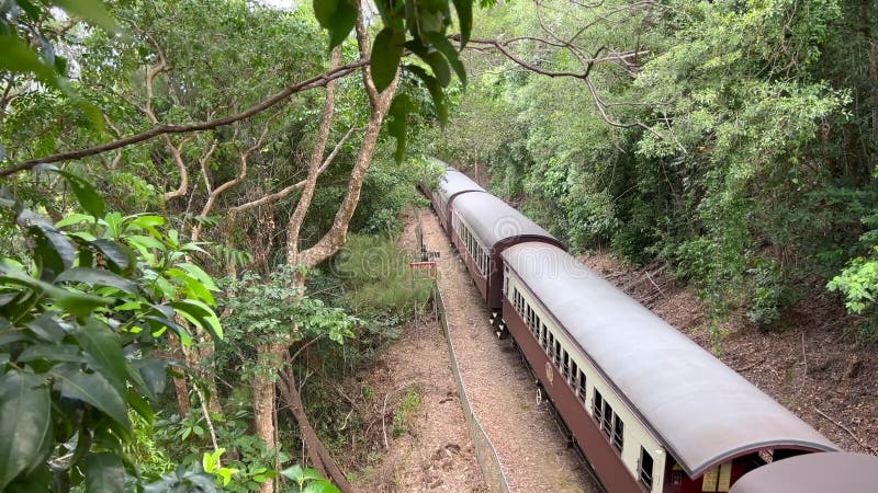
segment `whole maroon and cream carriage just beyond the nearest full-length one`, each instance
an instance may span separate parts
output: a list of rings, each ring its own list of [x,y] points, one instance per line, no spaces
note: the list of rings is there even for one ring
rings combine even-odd
[[[482,299],[492,310],[492,323],[500,310],[504,250],[521,242],[543,242],[563,249],[548,231],[525,215],[488,194],[463,194],[451,208],[451,242],[457,246]]]

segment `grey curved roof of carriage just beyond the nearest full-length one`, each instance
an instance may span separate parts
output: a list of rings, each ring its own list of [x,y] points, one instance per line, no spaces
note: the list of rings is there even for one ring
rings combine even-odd
[[[549,231],[488,193],[464,194],[457,197],[454,210],[465,218],[473,229],[473,234],[488,250],[503,240],[522,237],[559,243]]]

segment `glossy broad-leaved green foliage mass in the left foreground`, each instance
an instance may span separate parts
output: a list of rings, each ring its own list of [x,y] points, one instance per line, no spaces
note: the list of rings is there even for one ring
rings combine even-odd
[[[103,213],[91,184],[49,171],[85,210]],[[20,416],[0,432],[0,489],[57,481],[120,491],[126,474],[140,478],[123,448],[134,436],[130,411],[151,423],[148,400],[165,388],[167,362],[151,349],[169,329],[189,340],[176,316],[222,335],[216,287],[185,261],[201,249],[157,216],[77,214],[53,223],[5,188],[0,206],[30,245],[29,255],[0,263],[0,410]]]

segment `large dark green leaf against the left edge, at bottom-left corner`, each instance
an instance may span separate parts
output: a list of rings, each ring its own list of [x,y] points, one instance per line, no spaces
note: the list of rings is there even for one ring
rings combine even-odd
[[[0,377],[0,491],[38,458],[49,436],[46,379],[11,371]]]

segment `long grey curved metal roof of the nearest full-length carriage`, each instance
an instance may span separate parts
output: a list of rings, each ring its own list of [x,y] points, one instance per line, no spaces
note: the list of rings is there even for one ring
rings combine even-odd
[[[691,478],[750,451],[835,445],[566,252],[503,253]]]

